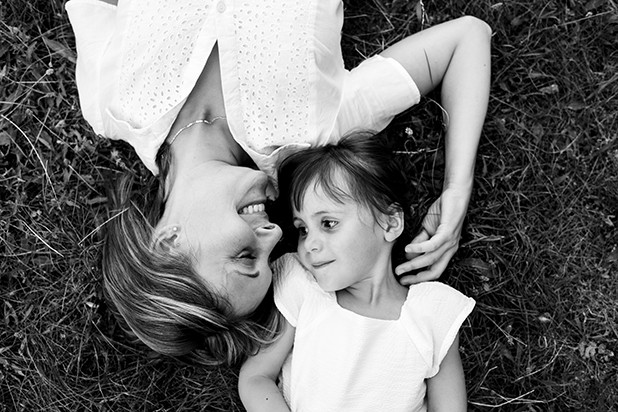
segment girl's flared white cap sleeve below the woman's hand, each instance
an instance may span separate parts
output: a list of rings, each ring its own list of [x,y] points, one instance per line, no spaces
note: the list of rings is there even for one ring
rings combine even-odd
[[[410,334],[420,341],[428,365],[427,378],[435,376],[461,325],[474,309],[475,301],[440,282],[411,286],[406,313]]]

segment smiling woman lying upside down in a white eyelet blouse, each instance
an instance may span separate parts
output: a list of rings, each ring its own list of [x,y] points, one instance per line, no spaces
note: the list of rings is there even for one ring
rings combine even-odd
[[[84,117],[128,141],[159,176],[143,207],[128,184],[118,191],[122,213],[103,252],[107,293],[140,340],[233,363],[271,339],[274,320],[257,309],[272,303],[269,257],[281,231],[265,204],[279,160],[354,129],[381,130],[439,83],[449,121],[440,222],[413,241],[409,256],[420,256],[397,273],[426,267],[402,278],[411,283],[444,270],[487,107],[484,23],[424,30],[349,72],[340,0],[110,2],[71,0],[67,11]]]

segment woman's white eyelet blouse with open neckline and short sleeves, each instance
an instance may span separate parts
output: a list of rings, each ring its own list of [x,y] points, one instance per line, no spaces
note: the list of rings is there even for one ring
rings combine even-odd
[[[84,117],[155,174],[215,43],[230,131],[267,172],[281,152],[381,130],[420,98],[393,59],[345,70],[340,0],[70,0],[66,9]]]

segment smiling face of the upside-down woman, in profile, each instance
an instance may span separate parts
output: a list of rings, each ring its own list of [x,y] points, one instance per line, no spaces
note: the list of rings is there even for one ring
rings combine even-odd
[[[272,282],[269,256],[281,229],[264,206],[275,190],[263,172],[225,163],[193,175],[170,193],[159,227],[176,220],[177,247],[194,258],[197,272],[227,297],[235,314],[249,314]]]

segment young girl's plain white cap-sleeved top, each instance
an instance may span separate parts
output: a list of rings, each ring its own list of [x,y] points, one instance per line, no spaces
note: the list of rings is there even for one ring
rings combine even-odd
[[[439,282],[410,286],[399,319],[342,308],[296,259],[277,261],[275,302],[296,328],[283,370],[292,411],[426,411],[435,376],[474,300]],[[448,394],[444,394],[448,396]]]

